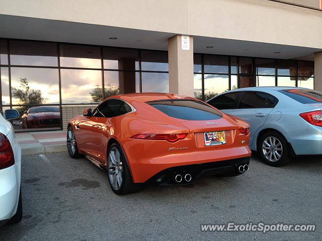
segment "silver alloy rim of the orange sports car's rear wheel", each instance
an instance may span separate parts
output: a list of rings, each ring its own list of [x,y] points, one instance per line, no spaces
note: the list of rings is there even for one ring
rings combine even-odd
[[[114,190],[119,190],[123,182],[123,164],[121,155],[117,148],[113,147],[109,153],[108,159],[108,174],[112,187]]]

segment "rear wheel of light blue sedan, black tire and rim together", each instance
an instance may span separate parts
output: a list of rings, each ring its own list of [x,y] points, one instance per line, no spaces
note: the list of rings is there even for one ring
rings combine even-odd
[[[264,141],[266,141],[266,143],[264,143]],[[275,145],[270,145],[274,143]],[[271,147],[269,147],[269,145]],[[287,141],[285,140],[283,135],[275,131],[269,131],[259,139],[257,152],[267,165],[273,167],[285,166],[290,162],[290,151],[287,145]]]

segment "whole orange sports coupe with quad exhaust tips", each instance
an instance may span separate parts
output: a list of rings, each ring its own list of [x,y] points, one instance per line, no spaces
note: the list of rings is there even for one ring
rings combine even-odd
[[[67,148],[107,170],[112,190],[141,183],[189,184],[201,175],[248,170],[249,125],[196,98],[165,93],[111,96],[72,118]]]

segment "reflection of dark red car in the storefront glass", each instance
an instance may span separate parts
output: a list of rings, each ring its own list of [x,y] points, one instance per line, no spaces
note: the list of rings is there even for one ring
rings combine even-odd
[[[21,116],[23,129],[51,128],[60,126],[60,110],[56,106],[29,108]]]

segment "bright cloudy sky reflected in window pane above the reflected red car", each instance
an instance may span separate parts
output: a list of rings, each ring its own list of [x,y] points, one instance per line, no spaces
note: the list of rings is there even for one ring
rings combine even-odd
[[[20,87],[20,78],[27,78],[30,89],[40,90],[44,104],[59,103],[58,69],[46,68],[11,68],[11,86]],[[13,104],[19,104],[19,99],[12,98]]]

